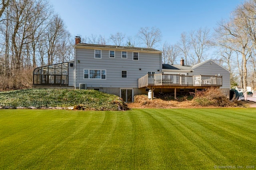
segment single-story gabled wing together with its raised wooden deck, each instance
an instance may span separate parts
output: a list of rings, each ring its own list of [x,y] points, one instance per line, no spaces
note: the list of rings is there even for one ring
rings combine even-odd
[[[209,87],[219,87],[226,95],[230,91],[230,71],[222,67],[212,59],[196,65],[184,65],[184,59],[180,65],[162,64],[160,74],[145,75],[139,79],[139,88],[147,87],[161,90],[161,93],[196,91]],[[153,96],[152,96],[153,97]]]

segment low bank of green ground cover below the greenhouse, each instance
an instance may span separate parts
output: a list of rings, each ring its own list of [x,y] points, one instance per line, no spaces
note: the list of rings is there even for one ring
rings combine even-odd
[[[25,89],[0,92],[0,106],[12,107],[70,107],[85,109],[118,110],[124,105],[116,95],[96,90]]]

